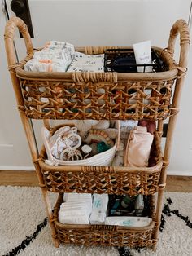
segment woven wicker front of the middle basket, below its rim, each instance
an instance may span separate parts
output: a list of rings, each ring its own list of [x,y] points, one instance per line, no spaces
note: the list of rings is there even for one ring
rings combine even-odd
[[[159,189],[160,170],[132,172],[91,171],[87,166],[86,172],[46,171],[43,172],[44,184],[51,192],[78,192],[78,193],[108,193],[144,195],[154,194]]]

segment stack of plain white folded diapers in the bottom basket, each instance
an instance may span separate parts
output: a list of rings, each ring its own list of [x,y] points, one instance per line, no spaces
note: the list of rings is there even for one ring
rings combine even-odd
[[[92,210],[91,194],[65,193],[60,205],[59,223],[89,224]]]

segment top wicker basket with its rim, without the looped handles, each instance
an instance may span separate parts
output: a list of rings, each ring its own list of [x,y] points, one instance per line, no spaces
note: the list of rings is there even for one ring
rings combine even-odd
[[[81,51],[86,52],[86,48]],[[173,112],[172,87],[178,70],[172,66],[172,55],[163,49],[158,51],[168,71],[51,73],[50,77],[50,73],[24,71],[27,58],[16,68],[24,112],[35,119],[165,119]]]

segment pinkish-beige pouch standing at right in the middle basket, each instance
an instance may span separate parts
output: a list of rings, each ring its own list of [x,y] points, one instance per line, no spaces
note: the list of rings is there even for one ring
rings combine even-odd
[[[137,126],[131,130],[124,152],[124,166],[147,167],[153,139],[146,127]]]

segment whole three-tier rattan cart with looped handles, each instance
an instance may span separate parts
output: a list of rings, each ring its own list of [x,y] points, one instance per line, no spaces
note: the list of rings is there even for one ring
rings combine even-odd
[[[15,60],[16,27],[23,34],[27,48],[27,57],[20,63],[16,63]],[[178,33],[181,51],[177,64],[173,60],[173,52]],[[27,26],[16,17],[7,22],[5,45],[15,98],[37,171],[55,246],[58,247],[63,242],[76,245],[140,246],[155,249],[159,235],[172,133],[179,111],[190,46],[190,35],[185,20],[177,20],[173,24],[166,49],[154,47],[168,67],[166,71],[157,73],[25,72],[24,64],[37,50],[33,50]],[[78,47],[76,51],[100,54],[107,48],[109,47],[87,46]],[[98,93],[100,88],[103,88],[102,95]],[[146,89],[151,90],[150,95],[146,95]],[[47,99],[46,102],[42,102],[42,97]],[[105,104],[101,104],[98,99],[103,99]],[[129,104],[129,99],[134,99],[134,104]],[[30,118],[41,119],[43,125],[51,131],[55,129],[50,126],[51,119],[153,119],[157,121],[156,165],[143,168],[49,166],[45,162],[45,148],[41,148],[40,154],[37,152]],[[164,153],[161,153],[160,143],[165,120],[168,120],[168,132]],[[50,206],[48,191],[59,194],[54,212]],[[61,224],[58,221],[58,211],[63,201],[63,192],[147,195],[150,198],[149,211],[152,223],[147,227]],[[155,193],[157,193],[156,203]]]

